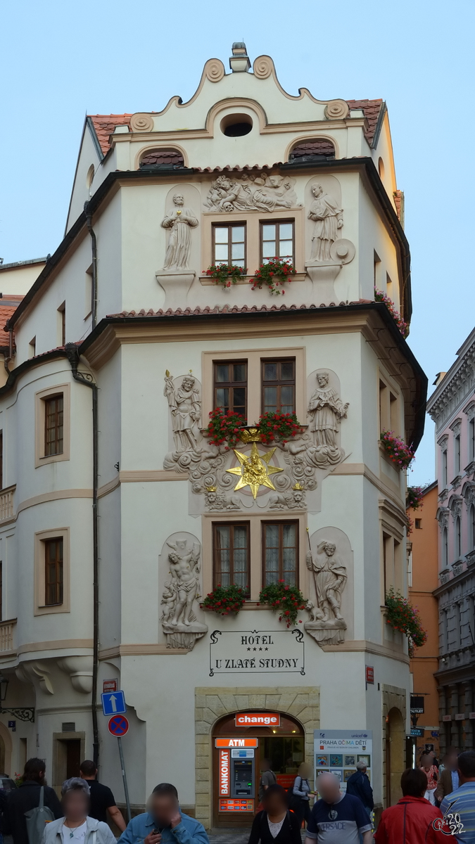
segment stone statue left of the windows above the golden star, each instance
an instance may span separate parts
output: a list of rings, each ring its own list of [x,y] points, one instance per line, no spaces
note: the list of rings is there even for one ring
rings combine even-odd
[[[175,387],[173,376],[167,370],[163,395],[167,396],[172,413],[173,441],[178,453],[197,451],[201,439],[201,401],[194,385],[194,377],[187,375],[184,376],[181,386]]]

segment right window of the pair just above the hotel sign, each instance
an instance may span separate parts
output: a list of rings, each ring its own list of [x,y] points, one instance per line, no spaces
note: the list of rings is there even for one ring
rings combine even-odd
[[[263,522],[264,585],[298,586],[298,522]]]

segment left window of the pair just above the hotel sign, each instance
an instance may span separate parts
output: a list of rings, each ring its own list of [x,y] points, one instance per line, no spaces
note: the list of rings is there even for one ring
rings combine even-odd
[[[240,586],[249,594],[249,524],[213,525],[213,587]]]

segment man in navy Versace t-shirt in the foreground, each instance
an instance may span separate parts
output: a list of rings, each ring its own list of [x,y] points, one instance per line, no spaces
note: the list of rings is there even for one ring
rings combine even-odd
[[[371,821],[363,803],[352,794],[342,794],[340,782],[330,771],[320,774],[317,790],[321,798],[314,803],[307,825],[305,844],[371,844]]]

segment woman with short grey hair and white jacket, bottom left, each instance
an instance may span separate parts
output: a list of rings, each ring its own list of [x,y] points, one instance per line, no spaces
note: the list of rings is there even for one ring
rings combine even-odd
[[[107,824],[88,816],[90,792],[85,780],[73,776],[61,789],[64,817],[46,824],[41,844],[115,844]]]

